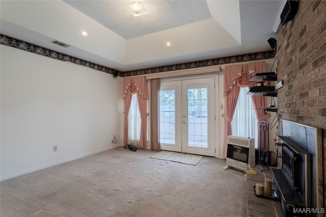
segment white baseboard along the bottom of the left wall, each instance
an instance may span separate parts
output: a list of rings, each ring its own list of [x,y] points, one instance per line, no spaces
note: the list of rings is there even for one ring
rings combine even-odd
[[[45,165],[40,166],[40,167],[33,167],[31,169],[28,169],[28,170],[23,170],[23,171],[19,171],[19,172],[16,172],[16,173],[9,174],[9,175],[1,176],[0,181],[4,181],[4,180],[10,179],[10,178],[14,178],[14,177],[17,177],[17,176],[20,176],[20,175],[25,175],[25,174],[35,172],[35,171],[38,171],[38,170],[42,170],[42,169],[45,169],[45,168],[53,167],[53,166],[56,166],[56,165],[59,165],[59,164],[67,163],[69,161],[74,161],[74,160],[77,160],[77,159],[80,159],[80,158],[85,158],[85,157],[90,156],[92,154],[96,154],[96,153],[100,153],[100,152],[103,152],[103,151],[111,150],[111,149],[121,147],[121,146],[122,146],[122,144],[118,144],[118,145],[114,145],[114,146],[104,148],[104,149],[101,149],[101,150],[89,152],[89,153],[86,153],[86,154],[80,154],[80,155],[74,156],[72,158],[68,158],[68,159],[64,159],[64,160],[61,160],[61,161],[45,164]]]

